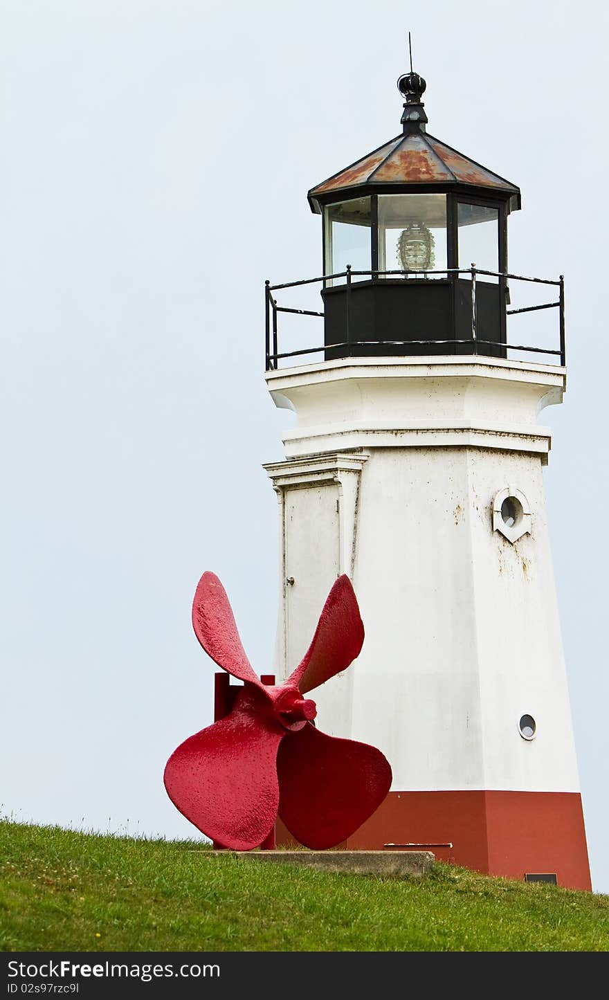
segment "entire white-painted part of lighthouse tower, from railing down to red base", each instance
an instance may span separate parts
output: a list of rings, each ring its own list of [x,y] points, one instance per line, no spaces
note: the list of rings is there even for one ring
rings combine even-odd
[[[549,369],[546,378],[543,366],[522,366],[519,374],[517,364],[498,379],[496,365],[487,374],[478,363],[459,384],[450,365],[444,375],[430,365],[422,377],[419,368],[414,378],[403,366],[369,379],[365,393],[360,364],[341,377],[332,429],[325,431],[312,403],[327,374],[323,366],[311,373],[310,395],[302,372],[294,370],[293,387],[289,375],[277,375],[284,398],[305,413],[290,434],[299,449],[313,427],[309,454],[323,438],[326,465],[330,446],[342,448],[346,435],[359,446],[354,457],[366,449],[357,503],[342,510],[339,502],[338,517],[335,490],[324,487],[313,503],[314,493],[296,489],[283,473],[286,552],[310,577],[302,600],[296,585],[285,594],[283,621],[287,648],[294,649],[302,642],[299,617],[308,631],[311,608],[321,607],[329,589],[331,559],[319,549],[339,551],[338,571],[352,576],[366,639],[345,678],[313,695],[319,725],[383,750],[395,790],[578,790],[542,481],[549,434],[535,424],[540,404],[556,399],[557,375]],[[322,395],[329,391],[323,384]],[[370,427],[374,392],[378,414],[392,409],[390,443],[387,428],[379,438]],[[441,426],[449,422],[450,447]],[[400,433],[415,425],[429,432],[427,446]],[[297,469],[298,462],[269,467],[276,482],[282,468]],[[492,524],[494,497],[507,486],[531,508],[531,534],[513,545]],[[351,522],[353,560],[346,567],[339,538]],[[525,713],[537,722],[532,741],[518,732]]]

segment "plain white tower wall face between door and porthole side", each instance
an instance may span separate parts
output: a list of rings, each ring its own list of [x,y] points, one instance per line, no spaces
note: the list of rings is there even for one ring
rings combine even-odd
[[[362,477],[351,735],[400,790],[484,787],[464,455],[374,450]]]

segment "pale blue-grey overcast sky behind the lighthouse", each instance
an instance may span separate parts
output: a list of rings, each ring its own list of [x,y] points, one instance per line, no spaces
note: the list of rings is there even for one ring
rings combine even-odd
[[[263,285],[312,277],[310,187],[400,131],[518,184],[510,266],[566,278],[544,472],[594,889],[609,892],[601,3],[0,0],[0,811],[189,837],[165,761],[211,721],[205,569],[272,669],[283,458]]]

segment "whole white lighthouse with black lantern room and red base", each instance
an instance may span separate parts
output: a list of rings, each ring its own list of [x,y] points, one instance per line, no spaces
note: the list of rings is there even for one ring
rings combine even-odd
[[[508,265],[520,190],[428,132],[425,88],[400,77],[401,132],[309,191],[323,273],[266,284],[266,381],[295,414],[265,466],[275,669],[348,574],[366,638],[319,723],[393,784],[344,846],[590,889],[543,486],[563,279]]]

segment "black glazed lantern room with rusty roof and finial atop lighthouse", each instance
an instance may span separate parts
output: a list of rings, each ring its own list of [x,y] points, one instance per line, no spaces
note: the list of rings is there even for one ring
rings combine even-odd
[[[425,87],[400,77],[402,134],[309,191],[323,220],[325,344],[338,345],[327,358],[505,356],[520,191],[427,133]]]

